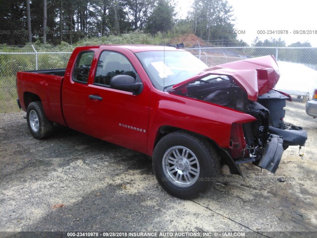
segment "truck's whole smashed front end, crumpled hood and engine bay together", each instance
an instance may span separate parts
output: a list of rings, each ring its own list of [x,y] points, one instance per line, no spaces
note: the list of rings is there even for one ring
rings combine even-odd
[[[170,91],[256,119],[231,126],[230,142],[228,148],[223,148],[222,158],[232,174],[242,175],[239,164],[248,162],[275,173],[283,149],[304,145],[307,139],[305,130],[285,130],[283,118],[288,97],[272,90],[279,78],[274,58],[264,57],[262,61],[251,59],[218,65],[175,85]]]

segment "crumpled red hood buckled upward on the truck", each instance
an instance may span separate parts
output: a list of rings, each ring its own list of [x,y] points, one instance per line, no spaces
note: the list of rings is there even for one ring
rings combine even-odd
[[[233,77],[234,82],[246,91],[248,99],[254,102],[258,100],[260,95],[272,90],[280,76],[275,58],[264,56],[207,68],[200,74],[174,85],[172,90],[174,91],[210,74],[223,74]]]

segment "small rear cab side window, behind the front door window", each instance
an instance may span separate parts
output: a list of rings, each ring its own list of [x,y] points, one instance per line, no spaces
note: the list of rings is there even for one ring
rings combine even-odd
[[[78,54],[73,70],[73,80],[75,82],[87,83],[93,58],[93,51],[83,51]]]

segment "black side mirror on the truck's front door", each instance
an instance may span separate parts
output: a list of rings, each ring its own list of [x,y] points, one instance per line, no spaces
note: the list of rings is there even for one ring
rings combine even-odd
[[[110,88],[132,92],[138,95],[142,92],[142,83],[135,82],[134,77],[125,74],[115,75],[110,80]]]

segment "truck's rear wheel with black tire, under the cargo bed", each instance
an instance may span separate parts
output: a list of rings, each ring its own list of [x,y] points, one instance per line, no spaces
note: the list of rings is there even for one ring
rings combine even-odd
[[[26,111],[26,120],[34,138],[41,140],[52,134],[53,122],[46,118],[41,102],[29,104]]]

